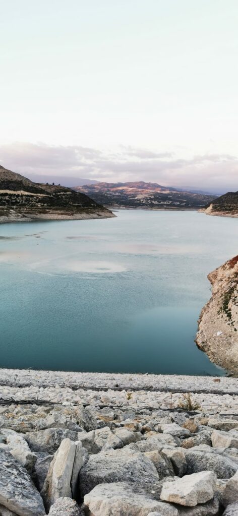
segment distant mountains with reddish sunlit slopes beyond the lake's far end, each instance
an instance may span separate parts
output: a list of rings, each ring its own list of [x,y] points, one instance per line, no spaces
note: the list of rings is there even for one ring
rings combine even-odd
[[[183,191],[144,181],[78,185],[74,189],[86,193],[104,206],[114,208],[199,209],[216,198],[215,195]]]

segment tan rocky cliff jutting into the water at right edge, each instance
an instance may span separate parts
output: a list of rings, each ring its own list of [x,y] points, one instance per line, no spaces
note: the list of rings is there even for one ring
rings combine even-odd
[[[197,345],[210,360],[238,375],[238,256],[208,276],[212,297],[199,318]]]

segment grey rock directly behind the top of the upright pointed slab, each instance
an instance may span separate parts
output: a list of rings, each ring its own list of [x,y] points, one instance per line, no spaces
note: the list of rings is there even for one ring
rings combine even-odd
[[[25,438],[31,450],[53,454],[63,439],[77,441],[77,432],[62,428],[47,428],[37,432],[26,432]]]

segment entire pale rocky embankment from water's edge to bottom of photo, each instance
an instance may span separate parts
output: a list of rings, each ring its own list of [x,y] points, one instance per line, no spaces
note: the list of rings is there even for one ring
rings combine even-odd
[[[237,515],[238,380],[2,369],[0,385],[2,516]]]

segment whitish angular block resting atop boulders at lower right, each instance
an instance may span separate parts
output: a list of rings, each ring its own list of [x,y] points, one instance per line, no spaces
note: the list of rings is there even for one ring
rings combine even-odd
[[[161,499],[165,502],[194,507],[214,497],[216,475],[213,471],[201,471],[185,475],[174,482],[165,482]]]

